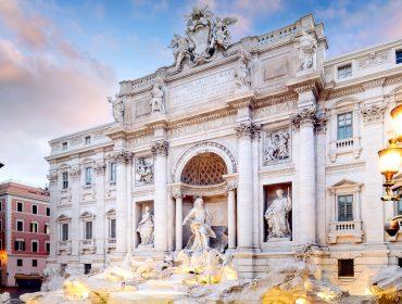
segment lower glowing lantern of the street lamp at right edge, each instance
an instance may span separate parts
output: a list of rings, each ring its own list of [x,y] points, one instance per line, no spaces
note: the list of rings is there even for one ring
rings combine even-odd
[[[392,186],[394,181],[393,176],[399,172],[401,166],[402,148],[391,143],[388,148],[378,152],[379,155],[379,169],[386,178],[384,186]]]

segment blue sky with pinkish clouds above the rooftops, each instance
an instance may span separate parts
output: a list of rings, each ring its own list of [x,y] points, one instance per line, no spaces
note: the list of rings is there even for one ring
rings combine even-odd
[[[234,41],[313,13],[328,58],[402,38],[402,0],[0,0],[0,180],[43,187],[48,141],[111,122],[106,96],[173,63],[196,4],[238,18]]]

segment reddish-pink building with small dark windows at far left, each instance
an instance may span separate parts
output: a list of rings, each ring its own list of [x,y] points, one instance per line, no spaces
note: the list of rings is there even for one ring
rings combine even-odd
[[[0,274],[7,287],[40,284],[50,252],[49,192],[0,185]]]

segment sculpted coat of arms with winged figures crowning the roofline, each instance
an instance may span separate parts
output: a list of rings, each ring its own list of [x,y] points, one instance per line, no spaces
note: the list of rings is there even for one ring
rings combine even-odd
[[[230,46],[228,26],[236,23],[236,18],[221,18],[205,8],[193,8],[187,20],[186,37],[174,35],[171,42],[175,56],[175,69],[188,60],[190,64],[198,65],[211,61],[218,51],[226,51]]]

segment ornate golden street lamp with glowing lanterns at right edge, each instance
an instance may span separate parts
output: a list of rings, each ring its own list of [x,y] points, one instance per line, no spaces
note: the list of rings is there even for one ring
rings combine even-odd
[[[395,185],[393,176],[401,170],[402,163],[402,104],[391,111],[391,117],[395,137],[389,140],[389,144],[386,149],[378,151],[380,173],[386,178],[382,185],[385,194],[381,200],[398,202],[402,199],[402,195],[397,193],[401,187],[392,187]],[[398,233],[400,229],[399,219],[402,219],[402,215],[393,217],[385,225],[385,230],[389,236],[393,237]]]

